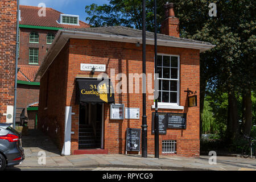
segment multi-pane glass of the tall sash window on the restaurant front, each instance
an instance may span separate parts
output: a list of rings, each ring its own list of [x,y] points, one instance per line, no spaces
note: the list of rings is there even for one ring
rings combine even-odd
[[[179,56],[158,55],[159,102],[179,105]]]

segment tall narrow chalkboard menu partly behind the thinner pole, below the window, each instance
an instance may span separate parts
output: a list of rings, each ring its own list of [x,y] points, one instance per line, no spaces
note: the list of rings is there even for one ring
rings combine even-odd
[[[159,134],[166,135],[167,113],[158,113],[159,115]],[[152,113],[152,134],[155,134],[155,113]]]

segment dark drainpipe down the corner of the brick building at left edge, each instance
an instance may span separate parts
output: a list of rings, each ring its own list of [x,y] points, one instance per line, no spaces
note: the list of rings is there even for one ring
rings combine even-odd
[[[14,109],[13,128],[16,125],[16,103],[17,103],[17,74],[18,74],[18,51],[19,51],[19,0],[17,0],[17,23],[16,23],[16,57],[15,57],[15,85],[14,85]]]

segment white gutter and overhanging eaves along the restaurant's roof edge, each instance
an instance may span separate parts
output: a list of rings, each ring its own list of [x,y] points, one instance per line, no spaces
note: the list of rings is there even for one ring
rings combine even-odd
[[[52,64],[53,60],[57,57],[57,55],[59,54],[61,49],[65,46],[67,41],[71,38],[90,39],[90,40],[105,40],[105,41],[126,42],[126,43],[139,42],[140,44],[142,44],[142,38],[119,36],[119,35],[106,35],[106,34],[83,32],[83,31],[77,31],[77,30],[59,30],[57,32],[56,39],[54,40],[51,47],[49,48],[47,55],[43,59],[42,65],[40,66],[40,68],[38,69],[38,72],[36,73],[35,81],[39,81],[40,77],[44,76],[47,69]],[[159,39],[157,43],[158,43],[158,46],[199,49],[200,52],[205,52],[205,51],[215,47],[215,45],[212,45],[212,44],[197,43],[197,42],[193,42],[193,43],[179,42],[179,41],[175,41],[175,40],[160,40]],[[147,38],[146,44],[154,45],[155,40]],[[49,60],[49,58],[51,60]],[[46,67],[46,68],[44,68],[44,67]]]

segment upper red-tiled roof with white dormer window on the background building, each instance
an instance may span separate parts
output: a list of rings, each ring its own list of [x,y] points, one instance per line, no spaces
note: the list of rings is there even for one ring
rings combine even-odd
[[[57,21],[60,18],[59,11],[52,8],[46,8],[46,16],[39,16],[38,11],[41,9],[36,6],[24,6],[20,5],[20,24],[31,26],[44,26],[44,27],[56,27],[56,28],[86,28],[90,27],[89,24],[79,21],[79,26],[69,24],[59,24]]]

